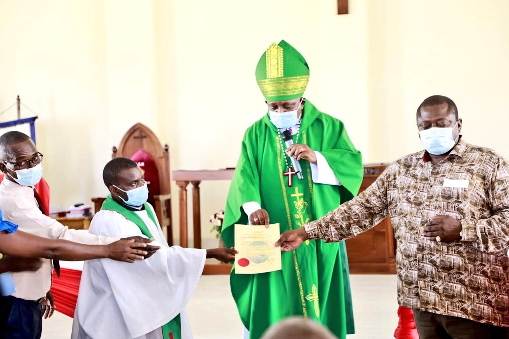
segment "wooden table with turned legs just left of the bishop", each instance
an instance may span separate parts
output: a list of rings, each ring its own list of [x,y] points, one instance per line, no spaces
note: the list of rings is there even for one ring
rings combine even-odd
[[[173,180],[179,186],[180,206],[180,245],[187,247],[189,242],[187,231],[187,187],[192,185],[192,215],[194,247],[202,248],[202,223],[200,210],[200,183],[205,180],[231,180],[234,169],[227,168],[217,171],[175,171]],[[230,274],[232,265],[206,264],[203,274]]]

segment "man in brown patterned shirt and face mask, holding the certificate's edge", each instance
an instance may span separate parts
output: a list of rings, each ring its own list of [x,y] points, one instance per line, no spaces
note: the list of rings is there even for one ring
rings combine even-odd
[[[398,303],[420,339],[509,338],[509,163],[467,144],[455,103],[423,101],[425,150],[393,162],[377,181],[276,245],[355,237],[390,216],[397,239]]]

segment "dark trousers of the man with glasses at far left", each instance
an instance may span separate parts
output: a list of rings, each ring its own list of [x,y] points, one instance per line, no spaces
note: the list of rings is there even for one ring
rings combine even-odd
[[[40,339],[42,307],[37,301],[0,296],[0,339]]]

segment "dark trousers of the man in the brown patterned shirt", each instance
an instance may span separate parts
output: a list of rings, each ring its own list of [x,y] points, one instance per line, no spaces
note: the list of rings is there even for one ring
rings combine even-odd
[[[508,339],[509,328],[413,309],[419,339]]]

